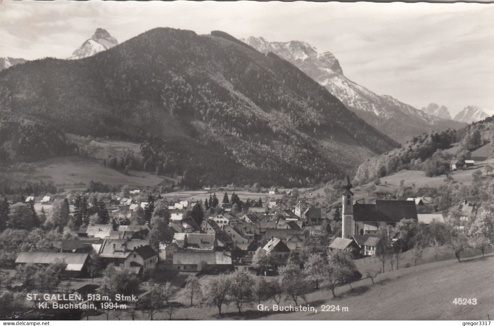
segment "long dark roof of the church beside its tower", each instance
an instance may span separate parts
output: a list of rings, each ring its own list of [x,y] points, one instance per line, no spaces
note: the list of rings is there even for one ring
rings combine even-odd
[[[375,204],[355,203],[353,217],[356,221],[368,222],[399,222],[403,218],[416,220],[417,208],[414,201],[376,200]]]

